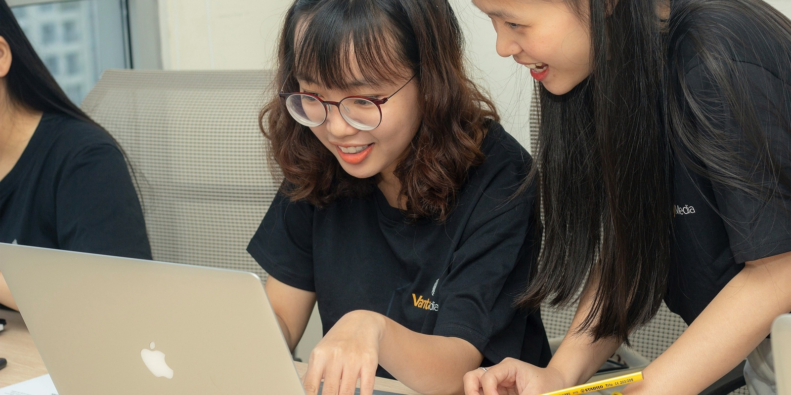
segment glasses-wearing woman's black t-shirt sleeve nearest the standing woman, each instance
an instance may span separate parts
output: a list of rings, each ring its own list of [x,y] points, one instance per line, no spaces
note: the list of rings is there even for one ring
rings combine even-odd
[[[524,245],[532,205],[520,202],[481,211],[486,213],[476,214],[480,217],[473,222],[479,223],[453,254],[450,272],[441,283],[434,334],[467,340],[486,359],[498,363],[515,352],[518,355],[521,346],[521,339],[497,344],[490,340],[506,326],[516,325],[517,310],[512,305],[528,278]]]

